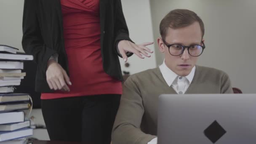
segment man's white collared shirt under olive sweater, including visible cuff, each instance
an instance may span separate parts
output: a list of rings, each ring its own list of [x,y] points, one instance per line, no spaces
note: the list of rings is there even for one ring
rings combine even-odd
[[[191,84],[195,75],[194,66],[189,75],[187,75],[186,77],[180,77],[166,66],[165,60],[159,68],[167,85],[169,87],[171,86],[178,94],[184,94],[187,91],[187,88],[189,88],[189,85]],[[157,138],[152,139],[147,144],[157,144]]]

